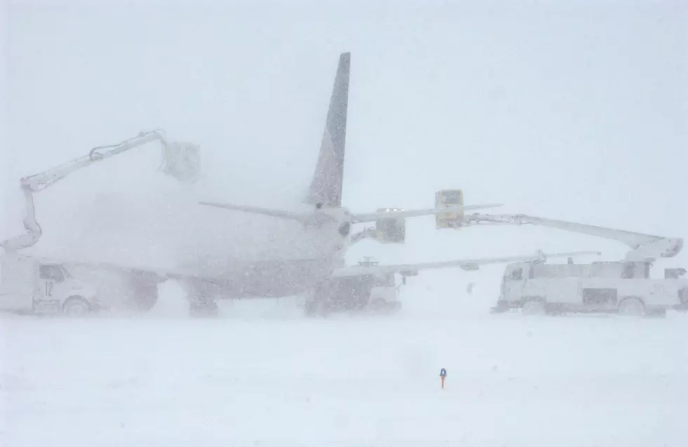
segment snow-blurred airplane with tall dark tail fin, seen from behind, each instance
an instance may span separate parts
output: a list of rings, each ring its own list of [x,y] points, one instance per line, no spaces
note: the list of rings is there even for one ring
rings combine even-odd
[[[277,298],[301,294],[307,295],[306,309],[309,314],[316,308],[326,309],[327,312],[348,310],[357,308],[366,301],[372,287],[372,278],[376,275],[395,272],[404,274],[418,269],[444,267],[475,269],[480,264],[533,259],[533,256],[526,255],[411,265],[375,265],[365,268],[345,266],[344,255],[352,243],[366,238],[383,243],[402,243],[405,238],[405,218],[443,213],[458,213],[463,216],[464,211],[501,206],[462,205],[417,210],[382,208],[369,213],[354,213],[345,208],[342,204],[342,191],[350,60],[351,54],[348,52],[339,56],[315,172],[303,198],[303,204],[310,211],[288,211],[218,201],[199,202],[201,206],[219,208],[223,212],[263,215],[298,225],[293,225],[289,232],[280,235],[289,241],[296,241],[291,244],[292,251],[282,258],[268,254],[263,260],[205,265],[191,276],[178,274],[176,277],[185,285],[192,307],[197,312],[214,312],[216,298]],[[366,222],[377,222],[376,229],[368,228],[352,234],[353,225]],[[402,225],[397,225],[399,223]]]

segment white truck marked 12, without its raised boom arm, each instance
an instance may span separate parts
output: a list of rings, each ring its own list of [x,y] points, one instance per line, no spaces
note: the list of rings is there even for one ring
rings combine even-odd
[[[88,314],[100,309],[95,288],[74,279],[61,262],[0,256],[0,310],[18,314]]]

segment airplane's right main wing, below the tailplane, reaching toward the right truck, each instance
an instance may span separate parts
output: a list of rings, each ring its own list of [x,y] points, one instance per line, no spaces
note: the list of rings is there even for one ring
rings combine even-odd
[[[509,264],[511,262],[545,262],[547,258],[560,258],[567,256],[580,255],[601,255],[599,251],[576,251],[571,253],[542,253],[538,251],[535,255],[507,256],[504,258],[476,258],[460,259],[439,262],[419,262],[417,264],[398,264],[398,265],[357,265],[352,267],[338,267],[333,270],[331,276],[360,276],[364,274],[417,274],[418,270],[443,269],[447,267],[461,267],[466,271],[479,269],[480,265],[486,264]]]

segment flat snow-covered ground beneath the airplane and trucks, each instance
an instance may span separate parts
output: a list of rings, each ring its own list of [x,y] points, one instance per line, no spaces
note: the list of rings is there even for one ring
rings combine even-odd
[[[2,317],[0,445],[688,446],[683,314],[310,320],[266,300],[200,320],[179,304]]]

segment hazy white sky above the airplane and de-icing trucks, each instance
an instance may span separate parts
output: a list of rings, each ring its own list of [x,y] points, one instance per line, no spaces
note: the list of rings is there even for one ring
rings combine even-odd
[[[352,52],[352,210],[428,207],[437,189],[462,188],[467,204],[505,204],[494,212],[688,236],[687,4],[475,3],[11,2],[0,237],[22,229],[22,175],[152,128],[201,145],[196,199],[291,207],[341,51]],[[155,147],[106,163],[37,194],[38,249],[86,225],[77,209],[97,194],[173,188]],[[352,259],[626,251],[538,228],[437,232],[420,218],[408,229],[404,246],[364,242]]]

